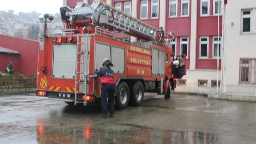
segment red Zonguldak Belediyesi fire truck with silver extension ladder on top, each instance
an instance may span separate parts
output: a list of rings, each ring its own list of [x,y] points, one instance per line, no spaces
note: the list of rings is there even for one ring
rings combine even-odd
[[[99,80],[85,75],[98,71],[105,58],[114,65],[117,109],[128,103],[140,105],[144,92],[170,98],[175,79],[186,74],[185,56],[174,59],[167,45],[175,38],[172,32],[165,33],[99,0],[92,5],[64,6],[60,11],[65,25],[60,31],[46,31],[45,15],[37,96],[74,105],[97,101],[101,96]]]

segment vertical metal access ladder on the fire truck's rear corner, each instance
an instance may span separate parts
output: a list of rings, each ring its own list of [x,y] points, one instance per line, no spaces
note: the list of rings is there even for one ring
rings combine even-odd
[[[81,42],[80,42],[81,38]],[[87,78],[85,74],[89,73],[89,54],[90,54],[90,36],[89,34],[77,34],[76,43],[76,66],[75,66],[75,105],[84,103],[86,105],[86,95],[88,90]],[[79,89],[79,90],[77,90]],[[84,102],[77,101],[77,93],[84,94]]]

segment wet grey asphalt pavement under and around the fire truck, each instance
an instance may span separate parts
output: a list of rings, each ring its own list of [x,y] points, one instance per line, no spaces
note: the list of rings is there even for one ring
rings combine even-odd
[[[101,119],[100,106],[74,107],[30,95],[0,96],[0,143],[255,144],[256,104],[147,93],[141,106]]]

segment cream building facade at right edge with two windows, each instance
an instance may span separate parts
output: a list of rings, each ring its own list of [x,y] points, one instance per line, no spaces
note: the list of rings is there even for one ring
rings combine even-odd
[[[256,1],[226,5],[224,92],[256,95]]]

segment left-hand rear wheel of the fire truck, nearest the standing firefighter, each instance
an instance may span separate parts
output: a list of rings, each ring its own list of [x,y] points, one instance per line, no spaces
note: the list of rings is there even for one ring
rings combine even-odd
[[[130,91],[126,82],[122,82],[118,85],[116,95],[116,108],[121,110],[127,107],[129,102]]]

